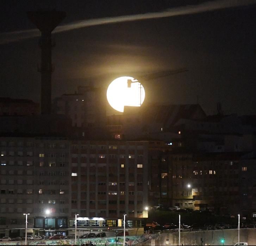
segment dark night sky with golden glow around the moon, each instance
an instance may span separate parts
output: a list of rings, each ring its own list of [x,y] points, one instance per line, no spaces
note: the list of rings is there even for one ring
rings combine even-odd
[[[27,19],[27,11],[39,7],[65,11],[67,17],[61,25],[67,25],[86,19],[161,13],[173,8],[189,12],[193,6],[220,2],[1,0],[0,97],[40,101],[39,37],[10,42],[14,36],[9,32],[35,28]],[[218,102],[225,114],[256,114],[256,1],[222,2],[244,5],[52,34],[56,42],[52,50],[52,98],[74,93],[77,85],[107,89],[119,76],[136,77],[186,67],[187,72],[148,82],[148,102],[194,104],[199,98],[199,104],[210,115],[217,113]]]

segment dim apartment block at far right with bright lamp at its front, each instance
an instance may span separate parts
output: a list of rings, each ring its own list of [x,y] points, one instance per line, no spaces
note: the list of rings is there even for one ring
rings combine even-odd
[[[243,152],[171,155],[174,206],[245,217],[255,214],[255,158]]]

